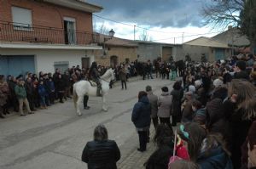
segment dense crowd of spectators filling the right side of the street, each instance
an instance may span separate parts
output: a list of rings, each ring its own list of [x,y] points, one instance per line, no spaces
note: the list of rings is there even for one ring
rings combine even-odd
[[[137,150],[147,149],[150,121],[157,145],[146,168],[256,166],[254,59],[247,54],[214,64],[186,63],[178,73],[183,80],[171,92],[162,87],[156,96],[147,86],[138,93],[131,115],[139,136]]]

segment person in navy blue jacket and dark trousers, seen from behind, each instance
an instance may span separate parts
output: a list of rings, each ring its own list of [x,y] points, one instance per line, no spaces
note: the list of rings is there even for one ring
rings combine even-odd
[[[138,102],[134,105],[131,115],[131,121],[137,129],[139,136],[140,148],[138,151],[147,149],[148,130],[150,127],[151,106],[147,97],[147,93],[141,91],[138,93]]]

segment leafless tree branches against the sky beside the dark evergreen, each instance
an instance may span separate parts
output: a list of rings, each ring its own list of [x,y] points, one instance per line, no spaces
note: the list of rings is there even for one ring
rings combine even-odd
[[[229,25],[237,26],[246,0],[212,0],[206,3],[201,14],[206,25],[224,30]]]

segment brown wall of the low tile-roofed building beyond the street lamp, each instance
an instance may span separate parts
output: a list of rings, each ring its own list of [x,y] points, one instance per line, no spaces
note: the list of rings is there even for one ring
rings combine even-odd
[[[118,57],[118,64],[124,62],[125,59],[129,58],[130,62],[137,59],[137,48],[136,47],[117,47],[112,46],[109,47],[110,50],[108,50],[107,55],[102,58],[102,50],[95,50],[94,55],[96,56],[96,62],[99,65],[110,65],[110,57],[111,56],[117,56]]]

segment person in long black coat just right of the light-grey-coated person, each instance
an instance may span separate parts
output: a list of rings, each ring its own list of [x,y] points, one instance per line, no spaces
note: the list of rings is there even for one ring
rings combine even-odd
[[[182,82],[177,81],[173,85],[172,95],[172,126],[176,127],[177,122],[181,121],[181,104],[183,99]]]

